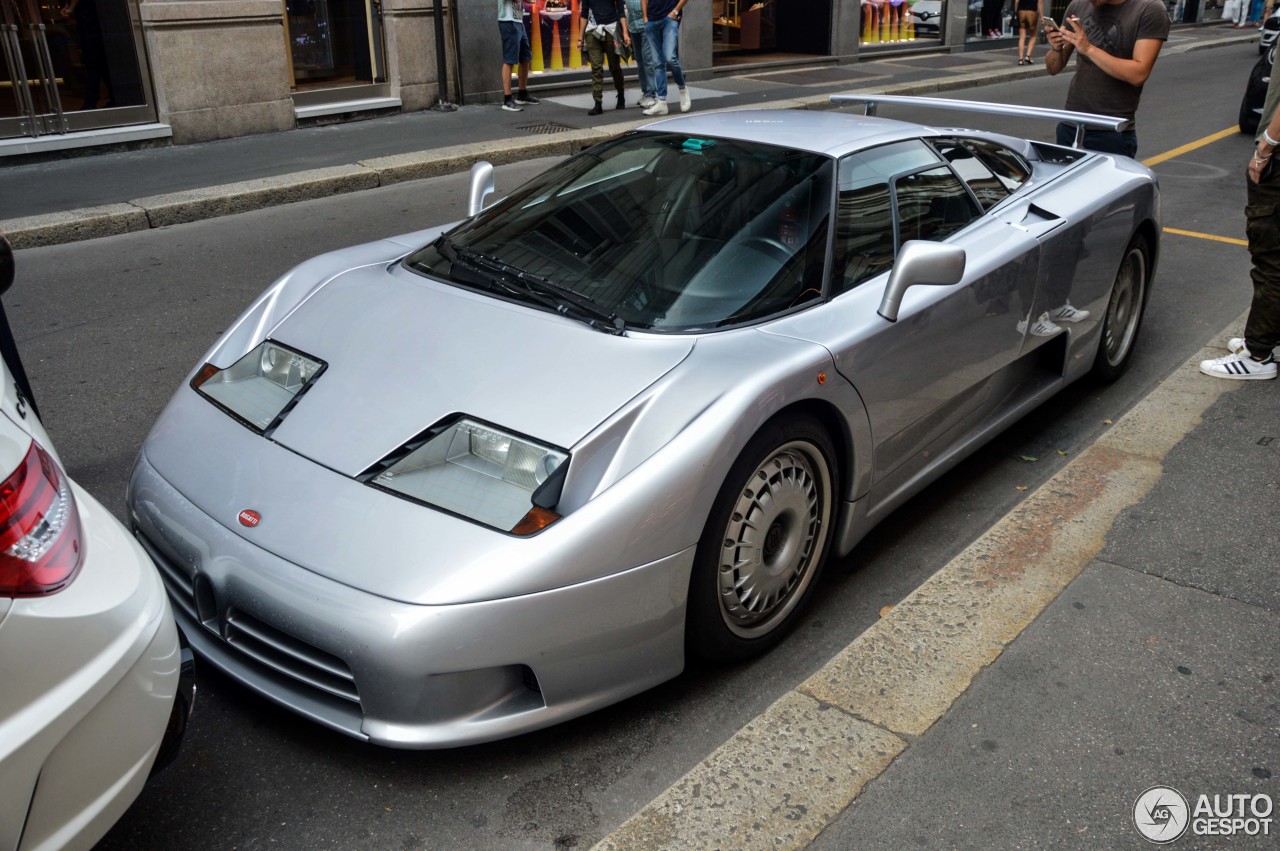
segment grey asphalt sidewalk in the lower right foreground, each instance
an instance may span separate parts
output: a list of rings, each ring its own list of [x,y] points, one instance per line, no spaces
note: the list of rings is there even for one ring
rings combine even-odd
[[[1240,328],[1243,317],[1222,337]],[[1224,339],[1215,344],[1197,360],[1225,352]],[[1203,402],[1167,454],[1151,452],[1164,443],[1161,418],[1194,418]],[[1117,424],[1100,445],[1142,447],[1158,481],[812,847],[1151,847],[1133,810],[1157,784],[1192,813],[1201,795],[1265,795],[1270,810],[1280,795],[1280,527],[1256,520],[1280,517],[1277,425],[1275,381],[1216,380],[1194,362]],[[1115,440],[1125,430],[1138,439],[1130,447]],[[1245,493],[1248,508],[1234,509]],[[1187,815],[1174,807],[1164,838]],[[1276,847],[1280,809],[1270,818],[1270,836],[1198,836],[1204,825],[1192,818],[1171,847]]]

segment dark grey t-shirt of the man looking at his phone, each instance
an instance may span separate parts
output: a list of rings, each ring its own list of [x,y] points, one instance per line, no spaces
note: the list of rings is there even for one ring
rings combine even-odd
[[[1083,28],[1093,45],[1116,59],[1133,59],[1133,46],[1139,40],[1169,40],[1169,12],[1161,0],[1124,0],[1119,5],[1101,6],[1089,0],[1071,0],[1064,20],[1070,20],[1071,15],[1080,18],[1073,26]],[[1133,120],[1139,97],[1142,86],[1116,79],[1076,51],[1066,109]]]

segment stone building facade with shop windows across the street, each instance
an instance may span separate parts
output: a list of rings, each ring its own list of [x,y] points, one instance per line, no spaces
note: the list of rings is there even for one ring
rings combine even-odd
[[[573,50],[580,1],[524,0],[535,91],[586,79]],[[1016,38],[1012,6],[690,0],[681,61],[707,81],[745,67],[1005,46]],[[0,155],[495,102],[495,18],[497,0],[0,0]]]

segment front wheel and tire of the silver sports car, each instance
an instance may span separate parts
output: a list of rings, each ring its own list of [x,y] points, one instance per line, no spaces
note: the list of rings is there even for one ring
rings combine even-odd
[[[838,471],[809,416],[768,422],[742,449],[712,505],[689,582],[685,645],[741,662],[795,626],[831,549]]]

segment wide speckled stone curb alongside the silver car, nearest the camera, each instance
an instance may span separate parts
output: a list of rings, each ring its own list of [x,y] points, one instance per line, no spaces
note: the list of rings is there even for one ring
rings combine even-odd
[[[1197,365],[1240,316],[1100,440],[820,671],[694,767],[599,851],[803,848],[942,718],[1089,564],[1165,456],[1222,394]]]

